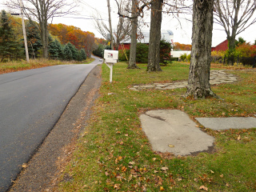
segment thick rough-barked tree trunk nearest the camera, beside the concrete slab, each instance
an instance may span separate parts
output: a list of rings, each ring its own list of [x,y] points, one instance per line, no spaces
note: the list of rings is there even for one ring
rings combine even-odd
[[[210,90],[210,50],[214,0],[194,0],[190,74],[185,96],[216,97]]]

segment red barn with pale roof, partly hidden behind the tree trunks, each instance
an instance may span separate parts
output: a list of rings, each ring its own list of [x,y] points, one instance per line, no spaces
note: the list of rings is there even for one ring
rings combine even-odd
[[[137,42],[149,44],[150,43],[150,30],[141,30],[142,37],[137,39]],[[174,42],[174,33],[171,30],[161,30],[161,38],[165,39],[167,42],[173,43]],[[126,42],[121,42],[118,47],[118,50],[122,48],[126,50],[130,50],[130,39]]]

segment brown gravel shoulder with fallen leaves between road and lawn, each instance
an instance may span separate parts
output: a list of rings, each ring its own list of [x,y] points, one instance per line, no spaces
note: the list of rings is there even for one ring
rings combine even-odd
[[[77,94],[71,98],[53,130],[30,161],[22,166],[22,172],[8,191],[54,190],[58,176],[74,151],[79,134],[86,126],[86,120],[90,118],[90,108],[98,98],[101,72],[100,65],[95,66],[90,72]]]

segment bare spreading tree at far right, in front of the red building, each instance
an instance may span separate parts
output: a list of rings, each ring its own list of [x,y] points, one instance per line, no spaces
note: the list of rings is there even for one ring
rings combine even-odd
[[[215,21],[226,32],[230,54],[234,51],[236,36],[256,22],[256,18],[253,18],[255,10],[255,0],[216,0],[214,2]],[[231,64],[234,62],[232,61],[233,59],[230,59]]]

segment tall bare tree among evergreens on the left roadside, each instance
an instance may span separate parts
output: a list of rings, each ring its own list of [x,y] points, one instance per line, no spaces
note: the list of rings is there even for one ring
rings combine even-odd
[[[18,0],[9,0],[7,6],[18,9]],[[43,58],[48,58],[48,20],[53,17],[60,17],[70,14],[76,3],[68,0],[26,0],[24,12],[27,18],[38,22]]]

